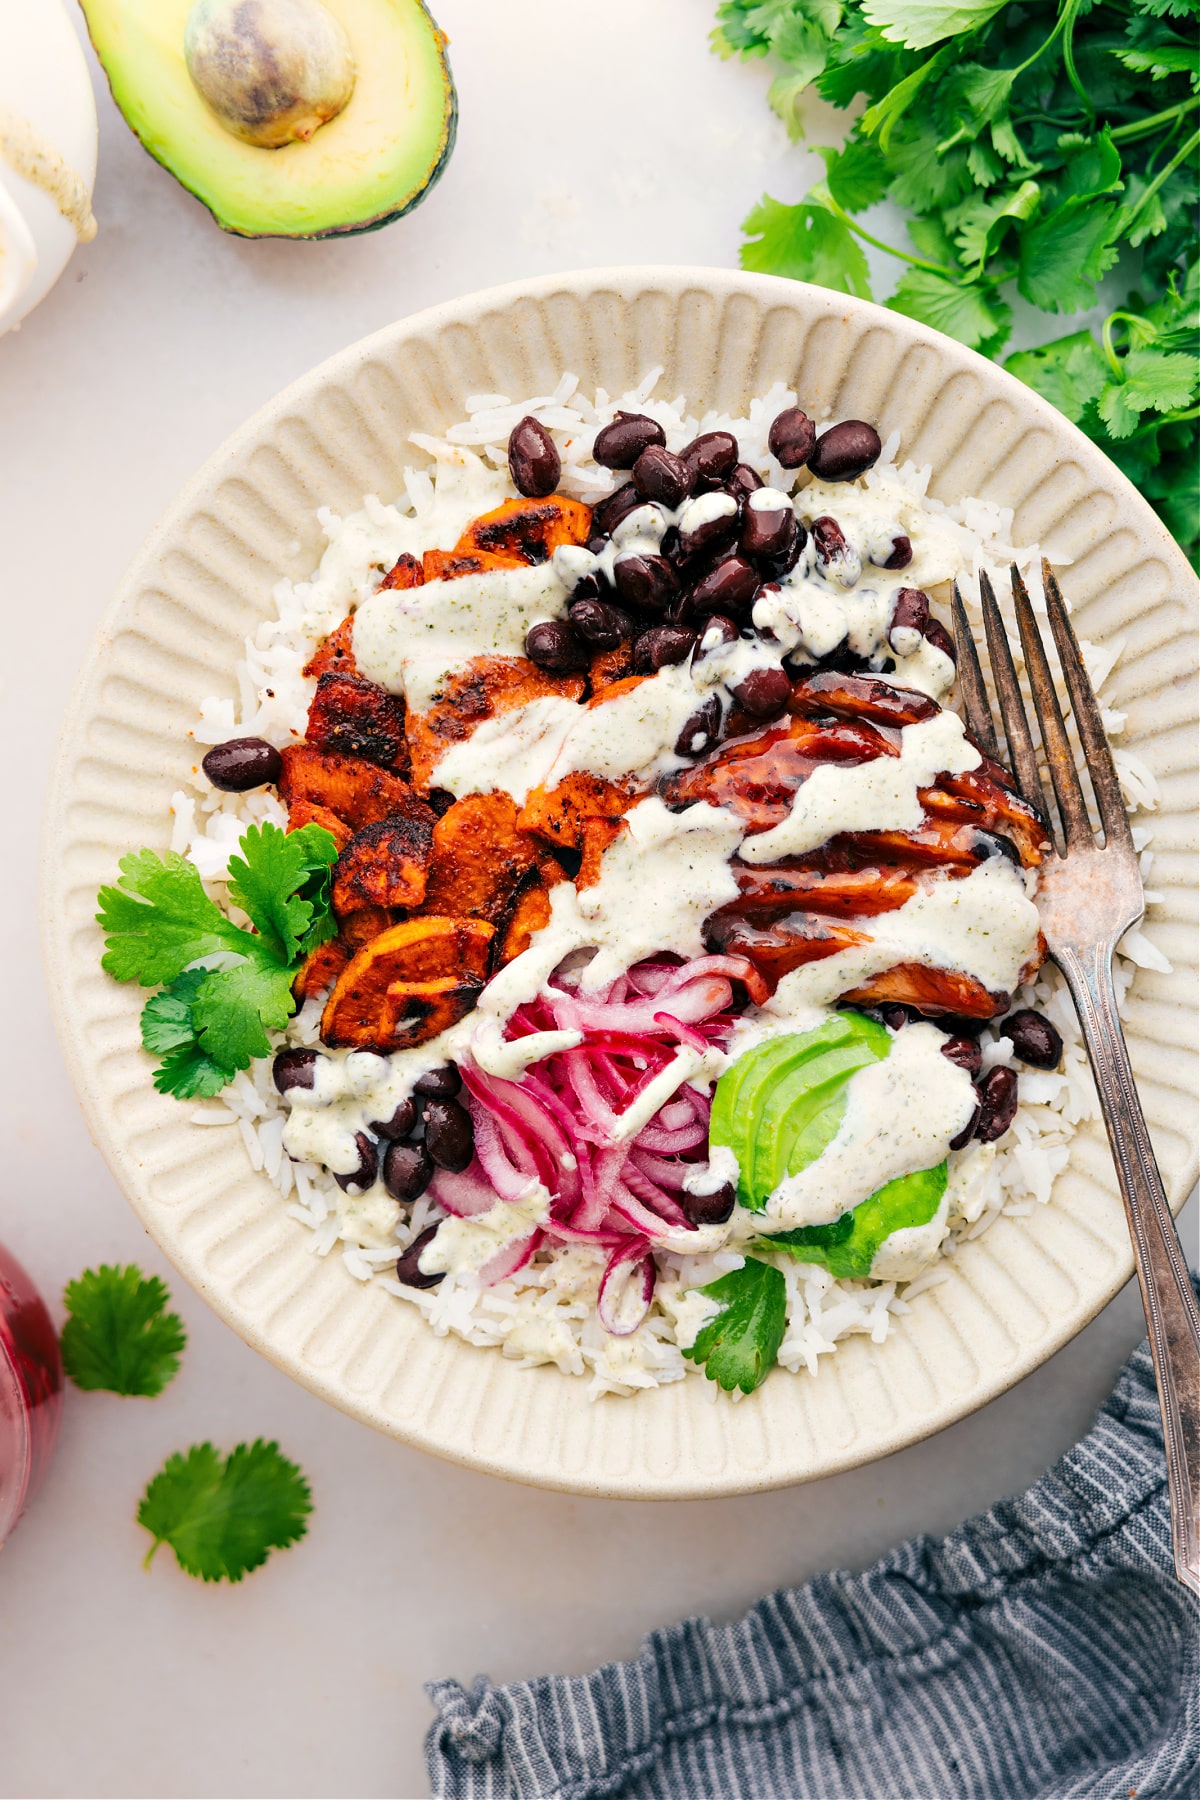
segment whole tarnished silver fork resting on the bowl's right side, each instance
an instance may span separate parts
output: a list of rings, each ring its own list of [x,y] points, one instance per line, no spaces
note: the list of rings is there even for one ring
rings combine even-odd
[[[1175,1571],[1187,1588],[1200,1593],[1200,1312],[1196,1312],[1187,1264],[1133,1085],[1133,1069],[1112,985],[1114,947],[1132,925],[1139,923],[1146,902],[1133,833],[1121,799],[1117,770],[1096,693],[1083,666],[1061,590],[1045,558],[1042,560],[1042,585],[1079,743],[1092,778],[1096,808],[1105,833],[1103,844],[1096,842],[1092,832],[1063,711],[1054,693],[1054,680],[1029,594],[1016,567],[1013,567],[1013,607],[1045,761],[1058,801],[1065,846],[1061,851],[1054,846],[1052,814],[1042,790],[1038,756],[1000,608],[991,581],[981,571],[979,590],[988,655],[1016,785],[1029,805],[1047,821],[1049,850],[1038,878],[1038,914],[1049,952],[1067,977],[1079,1013],[1133,1238],[1137,1280],[1146,1309],[1159,1406],[1162,1408]],[[954,590],[954,635],[959,650],[959,689],[966,722],[981,751],[997,758],[999,745],[988,691],[957,585]]]

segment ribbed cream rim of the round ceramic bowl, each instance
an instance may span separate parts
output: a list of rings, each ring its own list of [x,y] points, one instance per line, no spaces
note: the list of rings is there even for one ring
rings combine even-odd
[[[774,380],[819,418],[873,419],[932,463],[943,499],[1016,509],[1016,542],[1070,562],[1081,632],[1124,637],[1106,689],[1162,788],[1157,943],[1175,976],[1139,974],[1133,1067],[1168,1193],[1196,1168],[1195,616],[1186,560],[1146,502],[1020,382],[898,313],[772,277],[615,268],[470,295],[322,364],[250,419],[153,533],[86,659],[45,839],[50,994],[90,1129],[148,1231],[200,1294],[297,1381],[407,1444],[543,1487],[628,1498],[739,1494],[851,1467],[937,1431],[1027,1375],[1132,1271],[1103,1130],[1081,1132],[1049,1206],[1000,1219],[948,1264],[885,1345],[847,1339],[820,1375],[774,1375],[714,1402],[689,1379],[590,1404],[585,1382],[522,1372],[434,1337],[419,1314],[309,1255],[255,1175],[236,1125],[196,1127],[155,1093],[139,1048],[144,995],[99,967],[95,889],[139,844],[166,846],[171,790],[193,767],[198,704],[234,691],[243,637],[281,576],[306,576],[315,508],[392,495],[414,430],[468,394],[547,392],[563,369],[619,392],[664,364],[662,392],[743,410]]]

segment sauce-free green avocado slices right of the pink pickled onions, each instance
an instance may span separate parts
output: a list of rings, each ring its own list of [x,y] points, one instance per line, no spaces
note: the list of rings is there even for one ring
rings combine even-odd
[[[766,1039],[716,1084],[709,1143],[738,1157],[738,1199],[763,1211],[788,1174],[806,1168],[837,1136],[846,1084],[891,1049],[883,1026],[837,1013],[815,1031]]]

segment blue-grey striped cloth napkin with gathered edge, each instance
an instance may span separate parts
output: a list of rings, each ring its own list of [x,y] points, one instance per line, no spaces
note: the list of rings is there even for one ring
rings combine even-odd
[[[439,1800],[1195,1800],[1146,1345],[1027,1494],[590,1676],[428,1687]]]

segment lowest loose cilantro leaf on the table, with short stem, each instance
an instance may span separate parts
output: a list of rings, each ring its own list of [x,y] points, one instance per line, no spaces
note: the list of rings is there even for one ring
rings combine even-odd
[[[212,1444],[193,1444],[169,1456],[142,1494],[137,1523],[153,1535],[146,1568],[158,1544],[201,1580],[241,1580],[308,1532],[309,1487],[277,1444],[255,1438],[221,1456]]]

